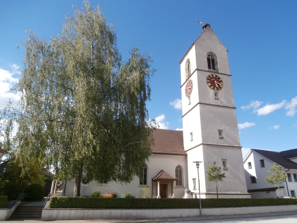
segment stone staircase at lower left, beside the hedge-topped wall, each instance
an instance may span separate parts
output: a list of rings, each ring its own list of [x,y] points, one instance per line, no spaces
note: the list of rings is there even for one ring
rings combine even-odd
[[[34,219],[40,220],[43,206],[19,205],[12,213],[10,219]]]

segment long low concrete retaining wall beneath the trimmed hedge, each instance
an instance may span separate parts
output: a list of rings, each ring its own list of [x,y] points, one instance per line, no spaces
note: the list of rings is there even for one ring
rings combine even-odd
[[[235,208],[202,208],[202,216],[238,215],[297,211],[297,205],[255,206]],[[151,219],[172,217],[199,217],[199,208],[164,209],[81,209],[43,208],[42,221],[92,219]],[[199,219],[198,219],[199,220]]]

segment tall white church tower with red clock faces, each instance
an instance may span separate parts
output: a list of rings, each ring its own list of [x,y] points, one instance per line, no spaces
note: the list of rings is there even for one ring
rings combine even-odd
[[[202,198],[215,198],[216,186],[207,180],[214,161],[226,178],[218,183],[219,198],[247,198],[227,49],[204,24],[204,31],[182,58],[181,100],[188,186]]]

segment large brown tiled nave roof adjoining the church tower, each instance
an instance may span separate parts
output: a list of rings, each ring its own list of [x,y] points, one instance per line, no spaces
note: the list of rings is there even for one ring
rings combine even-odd
[[[183,131],[155,129],[152,136],[154,137],[154,145],[151,147],[153,153],[184,155]]]

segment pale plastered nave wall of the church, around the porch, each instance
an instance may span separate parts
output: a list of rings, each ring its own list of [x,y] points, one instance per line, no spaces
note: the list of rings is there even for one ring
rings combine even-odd
[[[174,184],[174,195],[176,198],[182,198],[184,196],[185,184],[187,185],[187,165],[186,165],[186,156],[178,155],[163,155],[163,154],[153,154],[149,158],[147,164],[147,185],[140,185],[139,178],[135,176],[134,180],[129,184],[108,182],[107,184],[98,185],[98,183],[92,181],[88,184],[81,183],[80,196],[90,196],[91,192],[94,190],[99,190],[101,194],[110,194],[115,191],[118,196],[130,192],[132,196],[142,197],[140,190],[144,186],[147,186],[152,191],[152,197],[157,197],[157,183],[152,182],[154,178],[161,169],[167,171],[170,175],[175,177],[175,168],[177,165],[180,165],[183,169],[183,186],[175,186]],[[66,193],[65,196],[73,195],[73,182],[67,181],[66,184]],[[172,183],[168,183],[167,187],[167,197],[172,197]]]

